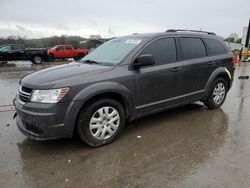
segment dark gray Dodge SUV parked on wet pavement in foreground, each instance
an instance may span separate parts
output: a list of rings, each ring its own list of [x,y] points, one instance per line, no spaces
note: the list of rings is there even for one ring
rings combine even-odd
[[[110,40],[79,62],[21,80],[17,126],[38,140],[112,142],[126,122],[202,101],[219,108],[234,76],[232,53],[210,32],[171,30]]]

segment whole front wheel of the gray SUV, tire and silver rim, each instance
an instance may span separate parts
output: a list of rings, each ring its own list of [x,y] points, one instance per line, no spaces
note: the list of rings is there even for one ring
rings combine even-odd
[[[77,121],[77,133],[92,147],[113,142],[126,122],[123,106],[116,100],[100,99],[83,108]]]

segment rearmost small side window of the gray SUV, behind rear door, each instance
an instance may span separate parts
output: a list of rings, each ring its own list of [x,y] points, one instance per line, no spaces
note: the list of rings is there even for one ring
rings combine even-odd
[[[227,49],[219,41],[214,39],[205,39],[211,55],[227,53]]]

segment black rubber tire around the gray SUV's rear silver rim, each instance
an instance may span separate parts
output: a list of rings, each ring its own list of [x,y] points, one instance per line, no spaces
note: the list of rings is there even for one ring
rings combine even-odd
[[[214,95],[214,90],[216,87],[218,87],[220,84],[222,84],[225,88],[225,94],[224,97],[221,97],[220,100],[216,102],[215,100],[215,95]],[[226,96],[228,92],[228,85],[227,81],[224,78],[217,78],[213,83],[212,86],[209,90],[209,95],[206,100],[203,100],[204,104],[209,108],[209,109],[216,109],[221,107],[221,105],[224,103]]]

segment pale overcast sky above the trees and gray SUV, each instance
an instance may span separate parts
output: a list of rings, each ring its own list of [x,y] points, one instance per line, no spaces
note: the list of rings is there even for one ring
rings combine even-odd
[[[202,29],[241,37],[249,0],[0,0],[0,37],[89,37]]]

